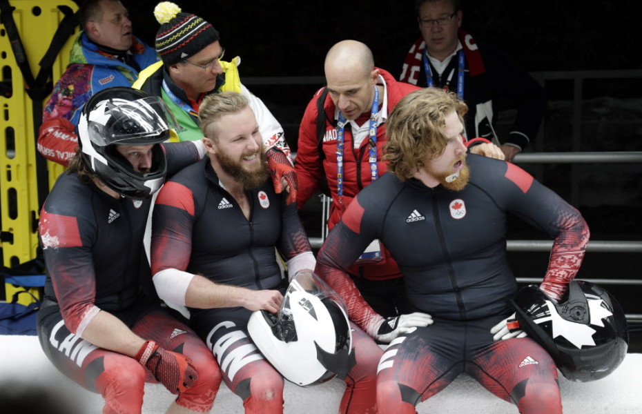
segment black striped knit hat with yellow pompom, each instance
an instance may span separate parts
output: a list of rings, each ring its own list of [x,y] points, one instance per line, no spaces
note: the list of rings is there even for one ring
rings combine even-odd
[[[158,3],[154,16],[160,27],[156,32],[156,51],[166,66],[191,57],[220,39],[210,23],[191,13],[184,13],[170,1]]]

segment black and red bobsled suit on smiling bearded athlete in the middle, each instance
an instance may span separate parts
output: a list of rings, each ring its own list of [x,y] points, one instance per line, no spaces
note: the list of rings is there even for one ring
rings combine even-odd
[[[173,268],[200,273],[217,284],[280,288],[275,248],[285,260],[311,252],[296,206],[286,205],[285,197],[274,192],[271,181],[248,190],[251,213],[246,219],[207,159],[185,168],[165,184],[156,201],[153,275]],[[191,326],[218,359],[224,381],[242,398],[246,413],[282,413],[283,378],[249,338],[251,311],[191,308],[190,315]],[[381,350],[356,329],[357,365],[345,379],[342,413],[366,413],[375,405]]]

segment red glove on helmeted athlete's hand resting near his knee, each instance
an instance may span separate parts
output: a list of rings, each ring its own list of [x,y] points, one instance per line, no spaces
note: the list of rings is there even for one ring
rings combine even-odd
[[[182,393],[198,379],[191,359],[160,348],[154,341],[145,342],[135,358],[172,394]]]

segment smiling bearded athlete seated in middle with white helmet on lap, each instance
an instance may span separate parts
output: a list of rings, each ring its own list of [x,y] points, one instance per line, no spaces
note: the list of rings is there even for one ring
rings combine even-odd
[[[220,113],[225,115],[215,117]],[[276,290],[284,287],[276,251],[293,276],[314,268],[312,249],[296,205],[275,193],[269,180],[246,184],[242,179],[246,171],[260,171],[261,153],[257,124],[242,95],[206,97],[199,116],[210,158],[179,172],[159,193],[153,217],[154,283],[160,297],[188,306],[192,328],[219,361],[224,381],[242,398],[245,412],[282,413],[284,380],[249,337],[249,317],[260,309],[249,302],[258,302],[253,298],[262,293],[274,295],[264,309],[278,311],[270,307],[274,302],[280,306]],[[223,168],[226,158],[237,167]],[[236,294],[242,299],[230,299]],[[356,366],[344,379],[340,413],[361,414],[373,412],[382,351],[353,328]]]

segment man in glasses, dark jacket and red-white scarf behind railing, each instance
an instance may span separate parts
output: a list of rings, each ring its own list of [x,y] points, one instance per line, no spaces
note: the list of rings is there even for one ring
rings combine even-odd
[[[467,138],[491,139],[513,161],[537,135],[546,109],[543,88],[498,48],[460,30],[460,0],[416,0],[416,7],[421,36],[405,57],[400,81],[456,92],[469,107]],[[517,109],[507,137],[495,130],[499,98]]]

